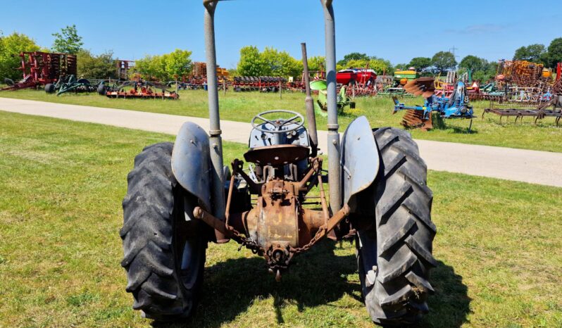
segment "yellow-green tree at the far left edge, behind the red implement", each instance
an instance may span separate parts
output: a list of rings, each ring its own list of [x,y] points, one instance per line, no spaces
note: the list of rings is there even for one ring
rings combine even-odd
[[[22,72],[15,68],[21,65],[18,54],[22,51],[39,51],[39,46],[25,34],[13,32],[7,37],[0,36],[0,77],[21,80]]]

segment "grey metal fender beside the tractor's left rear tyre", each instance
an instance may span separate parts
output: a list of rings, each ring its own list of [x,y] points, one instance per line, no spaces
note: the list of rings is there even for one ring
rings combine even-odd
[[[172,172],[189,194],[199,198],[205,210],[211,210],[211,155],[205,130],[185,122],[177,133],[172,151]]]

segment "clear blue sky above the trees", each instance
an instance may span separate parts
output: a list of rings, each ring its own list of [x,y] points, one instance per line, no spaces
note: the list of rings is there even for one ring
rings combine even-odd
[[[359,51],[407,63],[454,47],[458,61],[468,54],[496,61],[511,58],[519,46],[548,46],[562,37],[561,0],[334,0],[334,6],[338,58]],[[324,51],[318,0],[222,1],[216,20],[218,64],[226,68],[235,67],[239,49],[248,44],[275,46],[296,58],[300,42],[310,56]],[[51,46],[51,33],[72,24],[94,53],[113,50],[118,58],[137,59],[180,48],[193,51],[194,61],[204,60],[201,0],[0,0],[4,35],[22,32]]]

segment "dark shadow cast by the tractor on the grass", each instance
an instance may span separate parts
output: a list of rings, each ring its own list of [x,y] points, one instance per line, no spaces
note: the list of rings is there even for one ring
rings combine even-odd
[[[323,241],[301,254],[280,283],[268,274],[263,258],[230,259],[208,267],[194,317],[184,324],[161,326],[154,322],[153,325],[220,327],[244,314],[255,301],[267,298],[273,298],[275,308],[276,322],[272,324],[285,323],[282,308],[287,304],[296,305],[300,313],[306,308],[337,301],[345,294],[363,303],[360,284],[349,282],[346,277],[356,272],[356,257],[335,256],[336,247],[338,244],[332,241]],[[452,267],[439,262],[432,271],[432,284],[436,294],[430,297],[431,312],[421,322],[423,327],[461,326],[466,322],[470,303],[461,277],[455,275]]]

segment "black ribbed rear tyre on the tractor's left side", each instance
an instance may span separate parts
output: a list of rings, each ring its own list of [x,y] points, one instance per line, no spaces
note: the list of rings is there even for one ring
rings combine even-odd
[[[196,307],[207,246],[205,227],[192,217],[196,199],[177,183],[171,168],[172,143],[146,147],[127,176],[123,199],[127,292],[145,317],[174,321]]]

